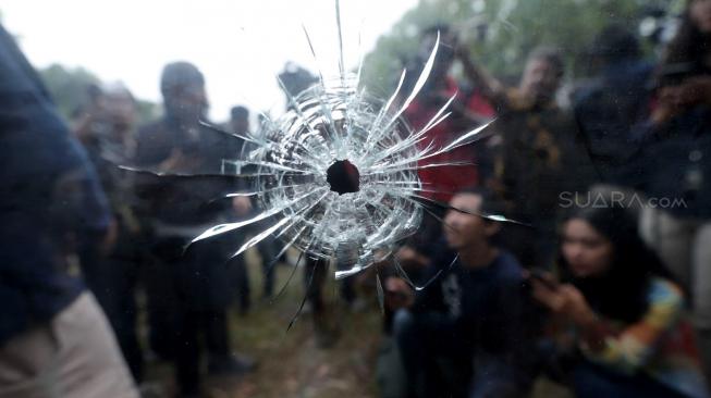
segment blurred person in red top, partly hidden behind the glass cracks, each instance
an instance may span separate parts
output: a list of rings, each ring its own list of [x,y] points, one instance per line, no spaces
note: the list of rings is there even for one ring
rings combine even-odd
[[[462,87],[450,75],[456,61],[455,55],[459,42],[456,32],[449,25],[436,25],[422,32],[418,52],[407,63],[406,77],[409,77],[409,80],[404,82],[401,95],[409,92],[412,86],[415,85],[414,79],[419,76],[430,57],[438,34],[440,42],[429,78],[405,110],[405,117],[417,132],[432,120],[450,98],[454,98],[454,100],[448,108],[448,112],[451,112],[450,116],[429,128],[424,139],[417,144],[418,150],[425,150],[429,145],[442,148],[462,134],[489,122],[494,116],[493,108],[481,96],[479,87]],[[486,179],[491,162],[486,157],[487,151],[478,148],[475,145],[466,145],[421,161],[422,165],[464,163],[417,170],[422,185],[427,188],[422,190],[421,195],[446,203],[452,199],[453,192],[479,185],[481,181]],[[408,239],[407,245],[400,251],[403,265],[408,271],[427,265],[433,254],[431,242],[439,237],[440,222],[438,217],[443,216],[442,212],[436,211],[438,214],[425,217],[422,227]]]

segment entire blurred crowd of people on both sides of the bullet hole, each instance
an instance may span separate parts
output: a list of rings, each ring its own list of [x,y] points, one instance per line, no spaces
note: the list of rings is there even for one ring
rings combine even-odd
[[[420,70],[438,37],[404,116],[418,130],[452,99],[451,114],[420,149],[489,125],[426,162],[452,165],[418,170],[422,226],[368,271],[382,279],[390,341],[381,396],[525,397],[545,376],[577,397],[709,397],[711,1],[688,2],[659,61],[626,27],[604,28],[588,51],[594,77],[568,90],[569,107],[557,49],[534,49],[507,86],[433,26],[405,66]],[[220,160],[245,153],[234,137],[250,134],[249,110],[232,110],[228,134],[201,123],[205,76],[189,62],[166,65],[160,90],[162,116],[138,125],[126,87],[93,86],[68,127],[0,27],[0,396],[137,397],[145,348],[173,365],[182,397],[199,396],[206,373],[255,369],[230,345],[228,311],[249,311],[253,296],[234,236],[188,245],[255,214],[249,197],[216,200],[248,188]],[[278,248],[258,246],[266,298]],[[328,264],[306,264],[328,347]]]

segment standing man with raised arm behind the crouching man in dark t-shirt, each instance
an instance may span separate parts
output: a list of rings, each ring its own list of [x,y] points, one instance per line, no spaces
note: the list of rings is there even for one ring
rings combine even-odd
[[[534,49],[517,87],[490,76],[464,48],[459,60],[498,111],[489,127],[495,132],[490,140],[493,175],[486,183],[506,200],[510,217],[534,226],[510,228],[505,241],[524,266],[549,266],[561,192],[587,190],[597,179],[574,119],[555,99],[563,58],[554,48]]]

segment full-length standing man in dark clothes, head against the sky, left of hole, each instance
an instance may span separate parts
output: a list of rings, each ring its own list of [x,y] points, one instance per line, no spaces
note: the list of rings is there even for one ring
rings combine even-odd
[[[187,62],[166,65],[161,92],[166,115],[139,129],[135,163],[159,173],[204,177],[143,175],[136,182],[155,235],[155,261],[147,278],[150,340],[157,353],[175,362],[181,390],[191,396],[199,393],[200,332],[210,373],[253,366],[232,357],[228,344],[226,308],[233,286],[225,261],[235,245],[226,246],[229,236],[217,237],[185,250],[193,238],[230,216],[231,207],[213,199],[235,190],[221,174],[223,160],[238,153],[236,140],[199,123],[208,102],[197,67]]]

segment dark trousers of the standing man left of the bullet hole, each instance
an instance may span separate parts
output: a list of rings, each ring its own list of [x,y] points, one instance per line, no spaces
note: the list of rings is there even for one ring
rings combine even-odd
[[[151,347],[175,364],[183,394],[197,394],[204,339],[208,361],[230,356],[226,308],[231,300],[231,247],[213,239],[187,250],[183,238],[156,242],[147,266]]]

